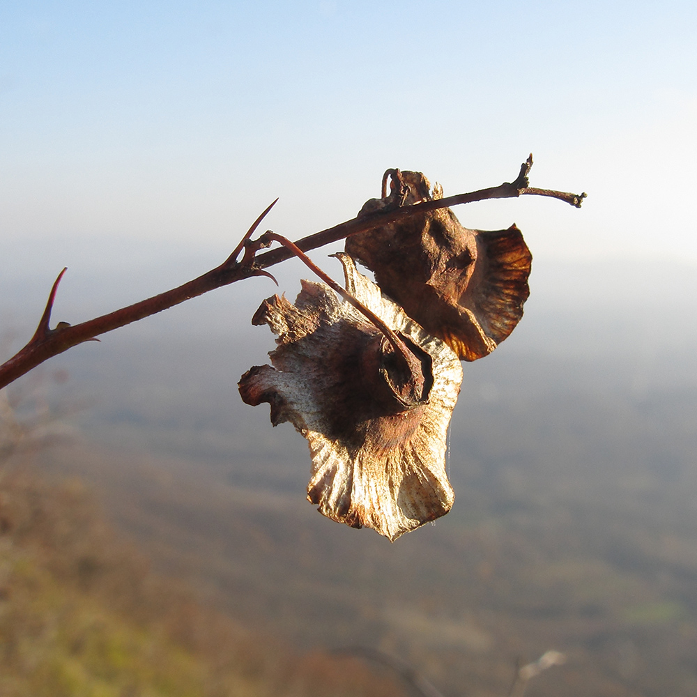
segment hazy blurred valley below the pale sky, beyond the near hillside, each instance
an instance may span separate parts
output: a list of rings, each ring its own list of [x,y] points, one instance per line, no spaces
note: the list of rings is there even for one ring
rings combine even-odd
[[[279,282],[294,298],[297,275]],[[239,398],[240,375],[273,348],[250,325],[270,283],[197,298],[10,386],[19,418],[55,418],[51,444],[15,453],[6,472],[31,459],[46,482],[78,477],[114,539],[226,627],[229,655],[321,656],[298,668],[312,679],[283,687],[285,668],[252,680],[242,659],[226,664],[227,684],[249,678],[229,694],[400,694],[384,669],[332,657],[355,646],[407,661],[449,697],[505,695],[516,661],[549,649],[567,663],[531,697],[697,694],[697,268],[542,260],[530,285],[510,339],[464,364],[452,512],[395,544],[314,511],[305,441]],[[15,348],[41,310],[21,298],[1,308],[3,327],[10,310],[21,318]]]

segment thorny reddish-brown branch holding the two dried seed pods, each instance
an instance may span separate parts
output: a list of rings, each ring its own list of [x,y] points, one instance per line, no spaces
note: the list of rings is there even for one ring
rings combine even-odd
[[[405,220],[411,215],[427,213],[427,211],[436,210],[436,208],[447,208],[459,204],[468,204],[473,201],[484,201],[485,199],[505,199],[519,197],[525,194],[534,194],[560,199],[561,201],[572,204],[572,206],[580,208],[585,193],[576,195],[529,187],[528,173],[532,165],[533,156],[530,155],[528,160],[521,165],[520,174],[513,182],[506,182],[497,187],[481,189],[467,194],[458,194],[457,196],[451,196],[445,199],[423,201],[422,203],[411,206],[401,206],[398,208],[381,210],[377,213],[370,213],[369,215],[353,218],[347,222],[335,225],[335,227],[302,238],[296,245],[302,252],[307,252],[317,247],[323,247],[324,245],[336,242],[337,240],[341,240],[355,233],[367,232],[378,227],[383,227],[383,225],[386,224]],[[276,201],[277,200],[278,199],[276,199]],[[192,281],[178,286],[177,288],[166,291],[165,293],[160,293],[160,295],[153,296],[147,300],[141,300],[141,302],[136,302],[134,305],[122,307],[115,312],[110,312],[109,314],[82,322],[75,326],[71,326],[66,322],[59,322],[56,328],[50,329],[49,319],[56,291],[63,277],[63,273],[66,271],[63,269],[53,285],[45,312],[33,337],[31,337],[29,343],[15,354],[13,358],[10,358],[10,360],[3,363],[3,365],[0,365],[0,388],[15,381],[32,368],[40,365],[40,363],[52,358],[52,356],[63,353],[63,351],[68,351],[68,348],[72,348],[72,346],[98,340],[95,339],[95,337],[105,334],[106,332],[111,332],[114,329],[118,329],[132,322],[136,322],[139,319],[144,319],[158,312],[162,312],[162,310],[174,307],[174,305],[179,305],[181,302],[189,300],[190,298],[201,296],[213,289],[227,286],[252,276],[264,275],[270,276],[273,279],[273,276],[264,269],[281,263],[282,261],[286,261],[286,259],[290,259],[291,256],[293,256],[293,252],[286,247],[279,247],[278,249],[256,256],[256,251],[268,245],[250,244],[249,240],[276,201],[273,201],[273,203],[261,213],[256,221],[254,221],[254,224],[252,224],[252,227],[245,233],[240,244],[220,266],[217,266],[207,273],[204,273],[204,275],[194,278]],[[237,257],[243,249],[245,249],[245,256],[242,261],[238,262]]]

